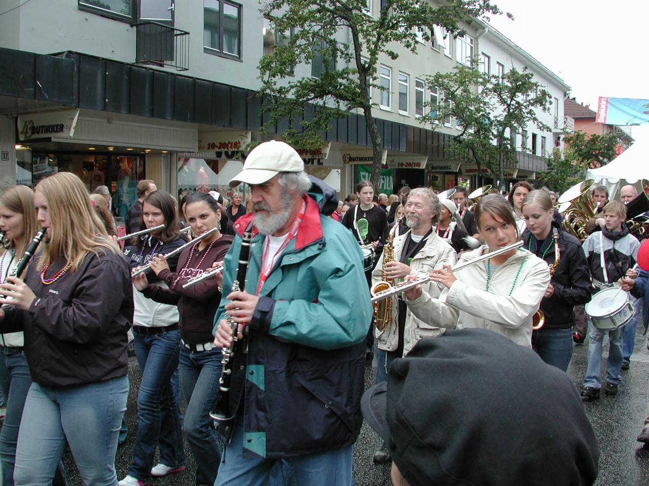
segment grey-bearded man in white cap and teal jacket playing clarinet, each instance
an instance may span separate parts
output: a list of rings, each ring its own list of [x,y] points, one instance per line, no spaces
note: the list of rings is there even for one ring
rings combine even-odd
[[[246,331],[239,346],[247,354],[234,355],[234,419],[215,486],[267,484],[280,459],[295,483],[350,486],[372,318],[360,248],[320,213],[326,196],[310,191],[304,163],[286,143],[256,146],[230,187],[241,182],[250,186],[252,213],[234,223],[223,288],[236,279],[245,231],[245,291],[223,292],[214,343],[232,343],[230,318],[239,339]]]

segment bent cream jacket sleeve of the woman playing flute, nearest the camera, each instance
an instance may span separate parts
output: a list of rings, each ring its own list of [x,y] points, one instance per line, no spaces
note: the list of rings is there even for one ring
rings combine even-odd
[[[550,270],[538,262],[511,295],[495,295],[456,280],[448,289],[447,303],[477,318],[517,329],[531,322],[532,315],[550,283]]]

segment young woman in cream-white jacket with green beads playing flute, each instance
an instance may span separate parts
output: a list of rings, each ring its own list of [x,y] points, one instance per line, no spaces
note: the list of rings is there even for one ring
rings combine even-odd
[[[520,238],[511,206],[498,194],[482,198],[475,216],[486,245],[462,255],[458,264]],[[519,248],[467,266],[457,275],[448,265],[430,275],[446,287],[439,299],[422,293],[421,286],[404,292],[408,308],[417,318],[449,329],[493,330],[532,347],[532,316],[550,283],[548,264],[539,257]]]

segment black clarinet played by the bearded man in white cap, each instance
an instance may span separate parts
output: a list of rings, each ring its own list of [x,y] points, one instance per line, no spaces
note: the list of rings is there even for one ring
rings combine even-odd
[[[248,258],[250,253],[250,242],[252,240],[252,223],[243,232],[241,238],[241,251],[239,252],[239,266],[237,267],[237,276],[232,282],[232,292],[243,292],[245,288],[245,273],[248,270]],[[210,412],[212,419],[225,422],[232,417],[234,413],[230,410],[230,383],[232,382],[232,357],[235,352],[237,338],[237,323],[230,316],[226,319],[232,330],[232,344],[223,348],[223,360],[221,364],[221,378],[219,378],[219,397],[214,410]]]

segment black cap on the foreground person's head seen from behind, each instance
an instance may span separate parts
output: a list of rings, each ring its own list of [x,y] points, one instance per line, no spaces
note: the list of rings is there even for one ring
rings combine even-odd
[[[593,484],[600,451],[569,376],[483,329],[424,338],[363,394],[411,486]]]

